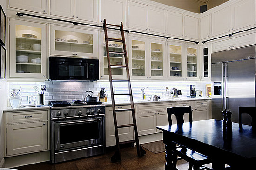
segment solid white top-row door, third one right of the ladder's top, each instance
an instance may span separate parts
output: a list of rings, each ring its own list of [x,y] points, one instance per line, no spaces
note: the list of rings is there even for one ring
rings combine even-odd
[[[167,11],[167,34],[183,37],[183,15]]]

